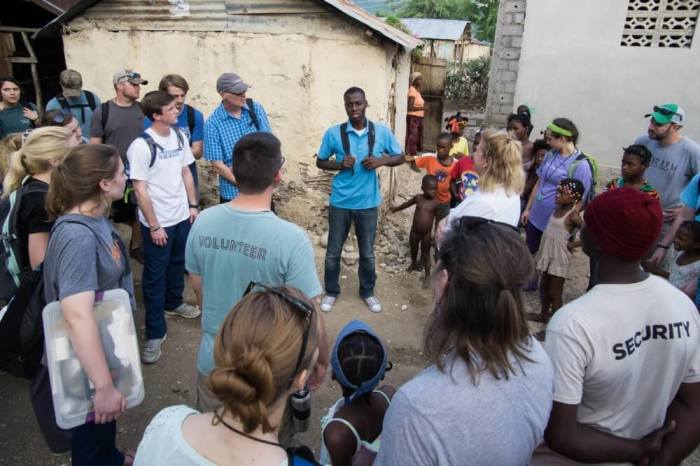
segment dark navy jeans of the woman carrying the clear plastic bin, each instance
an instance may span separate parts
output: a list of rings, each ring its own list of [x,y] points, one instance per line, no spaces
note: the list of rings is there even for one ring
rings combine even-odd
[[[73,466],[121,466],[124,455],[117,450],[117,423],[88,422],[73,429]]]

